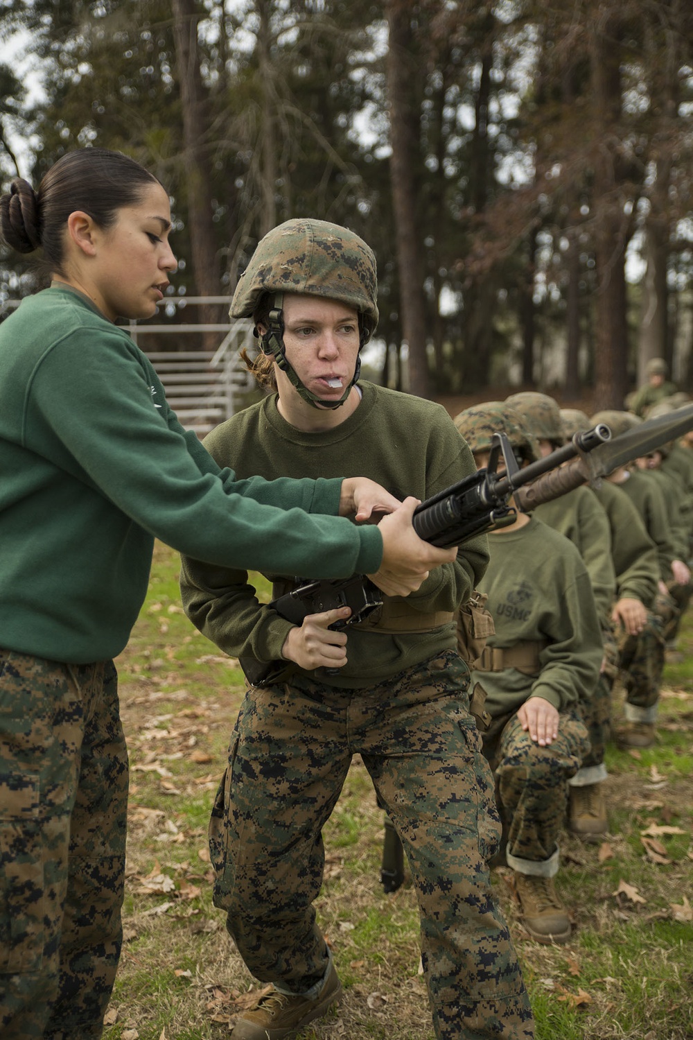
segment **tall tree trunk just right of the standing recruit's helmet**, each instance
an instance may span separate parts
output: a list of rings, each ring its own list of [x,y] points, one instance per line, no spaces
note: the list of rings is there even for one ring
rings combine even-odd
[[[390,171],[395,214],[395,239],[400,284],[402,335],[409,348],[409,390],[430,397],[430,376],[426,350],[424,264],[422,235],[417,219],[415,171],[420,165],[419,112],[411,103],[409,85],[412,50],[407,4],[389,0],[385,4],[390,44],[387,58],[392,154]]]

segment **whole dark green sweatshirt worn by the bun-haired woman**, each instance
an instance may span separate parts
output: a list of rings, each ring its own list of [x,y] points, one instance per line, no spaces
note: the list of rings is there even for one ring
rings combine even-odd
[[[0,645],[41,657],[85,664],[123,650],[155,537],[284,574],[372,572],[382,556],[375,527],[308,516],[338,512],[339,479],[221,471],[128,333],[64,287],[0,326]]]

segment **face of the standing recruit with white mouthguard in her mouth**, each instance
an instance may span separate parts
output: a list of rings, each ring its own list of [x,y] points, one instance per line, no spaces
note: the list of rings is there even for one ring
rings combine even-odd
[[[282,309],[289,364],[303,386],[318,397],[339,400],[356,367],[358,314],[337,300],[295,293],[285,295]],[[281,370],[277,386],[279,393],[295,393]]]

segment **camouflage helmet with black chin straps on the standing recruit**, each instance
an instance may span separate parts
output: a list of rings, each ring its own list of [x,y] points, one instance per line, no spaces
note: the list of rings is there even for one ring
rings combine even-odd
[[[286,220],[258,243],[241,275],[229,313],[232,318],[262,316],[267,331],[260,336],[263,354],[282,368],[297,392],[314,408],[339,408],[358,379],[356,360],[353,378],[339,400],[323,400],[308,390],[289,364],[284,348],[282,306],[285,292],[337,300],[358,314],[359,349],[371,338],[378,322],[377,272],[373,251],[363,238],[326,220]],[[256,330],[256,335],[258,332]]]

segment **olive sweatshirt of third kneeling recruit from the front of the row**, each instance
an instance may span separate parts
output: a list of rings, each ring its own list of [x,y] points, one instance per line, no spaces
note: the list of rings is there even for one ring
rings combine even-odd
[[[660,567],[655,543],[629,496],[615,484],[602,480],[592,489],[611,528],[611,554],[616,571],[616,599],[638,599],[651,606]]]

